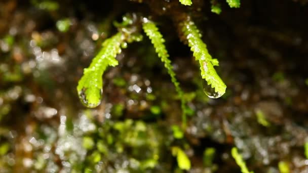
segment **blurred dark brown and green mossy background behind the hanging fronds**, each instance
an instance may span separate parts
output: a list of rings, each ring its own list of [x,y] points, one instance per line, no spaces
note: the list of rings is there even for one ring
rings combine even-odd
[[[232,147],[254,172],[308,172],[307,1],[217,2],[220,15],[209,0],[0,0],[0,172],[240,172]],[[194,17],[219,60],[221,98],[203,93],[172,10]],[[100,106],[81,104],[83,68],[127,13],[152,16],[164,35],[186,129],[145,36],[105,72]]]

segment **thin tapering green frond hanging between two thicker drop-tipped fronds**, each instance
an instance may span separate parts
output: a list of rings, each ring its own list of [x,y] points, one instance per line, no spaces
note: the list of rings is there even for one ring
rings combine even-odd
[[[171,77],[171,81],[173,82],[175,86],[175,90],[178,93],[179,98],[181,99],[181,107],[183,111],[182,121],[183,121],[183,125],[185,125],[186,124],[186,114],[185,114],[185,100],[183,97],[183,91],[181,90],[179,86],[180,85],[179,82],[175,78],[175,72],[173,71],[171,61],[169,60],[169,54],[164,45],[165,39],[163,38],[163,35],[160,33],[157,26],[151,21],[147,20],[147,22],[143,23],[143,30],[146,33],[146,35],[149,37],[149,39],[151,40],[156,50],[156,53],[161,58],[162,62],[165,63],[165,68],[167,69]]]

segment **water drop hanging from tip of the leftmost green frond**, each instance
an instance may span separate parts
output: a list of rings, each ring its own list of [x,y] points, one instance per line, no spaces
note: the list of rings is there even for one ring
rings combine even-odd
[[[98,105],[100,105],[103,90],[97,89],[97,91],[89,91],[89,92],[87,92],[87,90],[89,89],[83,88],[78,93],[81,102],[88,108],[95,108]]]

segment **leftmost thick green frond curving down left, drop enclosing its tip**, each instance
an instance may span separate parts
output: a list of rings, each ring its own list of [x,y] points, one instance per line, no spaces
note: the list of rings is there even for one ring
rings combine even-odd
[[[107,66],[118,65],[115,57],[121,52],[122,42],[121,32],[106,39],[102,44],[103,48],[92,60],[90,66],[84,69],[84,75],[79,80],[77,91],[85,106],[93,108],[100,104],[103,87],[102,75]]]

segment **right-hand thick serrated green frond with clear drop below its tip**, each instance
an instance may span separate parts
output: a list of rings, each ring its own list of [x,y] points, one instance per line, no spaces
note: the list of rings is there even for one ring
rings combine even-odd
[[[188,46],[194,52],[196,60],[199,61],[202,78],[207,81],[208,85],[211,85],[211,88],[219,96],[222,96],[225,93],[226,85],[213,67],[218,66],[218,60],[212,59],[195,23],[193,21],[185,21],[182,24],[182,31],[187,38]]]

